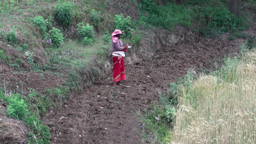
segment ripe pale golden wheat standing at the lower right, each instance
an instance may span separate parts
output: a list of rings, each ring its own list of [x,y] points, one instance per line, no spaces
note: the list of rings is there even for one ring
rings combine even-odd
[[[171,143],[256,143],[256,52],[219,73],[181,87]]]

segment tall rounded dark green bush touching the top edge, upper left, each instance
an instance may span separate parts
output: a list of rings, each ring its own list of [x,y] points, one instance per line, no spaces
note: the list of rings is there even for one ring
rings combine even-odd
[[[55,19],[61,26],[69,26],[73,20],[73,4],[71,2],[57,3],[54,7]]]

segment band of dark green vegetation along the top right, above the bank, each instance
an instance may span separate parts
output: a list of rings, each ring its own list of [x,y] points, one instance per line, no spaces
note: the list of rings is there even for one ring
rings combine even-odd
[[[237,32],[247,27],[246,19],[231,14],[222,1],[186,1],[177,5],[158,5],[155,0],[141,1],[141,17],[152,26],[174,29],[181,25],[194,28],[202,35],[213,37],[218,33]],[[148,26],[147,26],[148,27]]]

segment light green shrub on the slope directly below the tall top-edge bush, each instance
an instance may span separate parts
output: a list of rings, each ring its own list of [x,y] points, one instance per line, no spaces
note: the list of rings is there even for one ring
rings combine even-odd
[[[62,42],[63,42],[63,34],[61,33],[61,30],[58,28],[53,28],[49,31],[49,38],[51,40],[51,43],[56,46],[59,47]]]

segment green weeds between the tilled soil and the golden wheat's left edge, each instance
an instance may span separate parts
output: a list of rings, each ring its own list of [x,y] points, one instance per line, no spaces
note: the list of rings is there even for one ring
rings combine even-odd
[[[150,143],[169,141],[166,137],[170,135],[176,115],[176,89],[176,83],[171,83],[168,92],[160,95],[159,104],[152,104],[148,110],[143,110],[143,113],[137,115],[143,129],[142,137]]]

